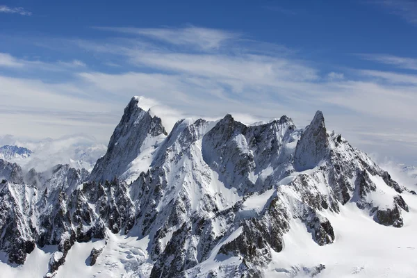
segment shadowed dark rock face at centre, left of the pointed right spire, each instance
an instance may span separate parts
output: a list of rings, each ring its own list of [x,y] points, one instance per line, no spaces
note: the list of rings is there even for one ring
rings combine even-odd
[[[282,167],[291,163],[292,154],[284,147],[292,141],[295,125],[286,116],[259,126],[245,126],[226,115],[202,140],[204,161],[218,172],[226,185],[242,194],[259,191],[251,172],[261,172],[268,165]]]

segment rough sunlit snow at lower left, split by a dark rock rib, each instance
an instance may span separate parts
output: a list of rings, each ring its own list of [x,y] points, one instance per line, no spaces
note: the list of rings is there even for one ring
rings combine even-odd
[[[56,278],[82,277],[149,277],[152,264],[147,263],[149,238],[139,239],[112,234],[108,231],[106,240],[75,243],[71,247],[56,275]],[[90,266],[92,248],[104,247],[95,265]],[[0,253],[0,277],[44,277],[48,272],[48,262],[56,246],[44,247],[28,254],[24,265],[17,267],[6,264]]]

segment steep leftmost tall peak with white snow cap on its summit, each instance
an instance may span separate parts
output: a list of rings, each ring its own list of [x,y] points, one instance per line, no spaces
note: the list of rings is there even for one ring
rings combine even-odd
[[[149,168],[150,154],[167,136],[167,132],[161,118],[152,116],[141,106],[148,108],[149,101],[133,97],[124,108],[122,120],[111,136],[106,154],[99,158],[92,170],[92,180],[105,181],[114,177],[133,180]]]

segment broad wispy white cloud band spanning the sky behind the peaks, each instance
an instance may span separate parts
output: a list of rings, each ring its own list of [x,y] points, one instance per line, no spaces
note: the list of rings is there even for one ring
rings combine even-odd
[[[324,71],[298,58],[297,52],[275,51],[281,47],[248,40],[244,34],[231,31],[199,27],[127,30],[106,27],[101,31],[107,31],[109,37],[65,40],[64,44],[83,53],[87,51],[97,63],[116,63],[120,67],[99,69],[76,60],[67,62],[71,65],[57,61],[52,63],[55,67],[70,69],[65,72],[69,78],[54,84],[41,78],[11,78],[0,74],[3,108],[18,104],[16,111],[28,111],[19,117],[8,115],[10,129],[22,125],[23,133],[33,126],[37,129],[43,126],[42,131],[51,132],[45,127],[50,114],[51,122],[62,124],[59,129],[62,132],[74,129],[94,132],[97,138],[107,140],[113,125],[120,120],[119,117],[114,117],[114,122],[109,120],[115,115],[114,109],[122,113],[130,97],[143,95],[186,115],[255,116],[250,119],[288,115],[298,126],[308,124],[315,111],[322,110],[329,129],[342,132],[357,147],[365,147],[370,152],[378,148],[389,152],[389,146],[398,140],[402,140],[404,149],[415,146],[416,133],[409,126],[417,124],[417,75],[396,72],[400,62],[387,63],[393,65],[389,71],[340,68],[337,72]],[[209,47],[208,38],[213,38]],[[3,55],[3,64],[12,69],[28,64],[35,71],[44,66],[40,63],[46,63],[30,62]],[[28,108],[56,112],[40,117]],[[24,123],[28,115],[33,115],[29,126]],[[20,121],[13,124],[17,118]],[[36,119],[38,122],[33,123]],[[109,124],[97,124],[98,130],[91,128],[103,122]],[[387,125],[392,126],[390,132],[386,131]],[[399,133],[404,134],[398,137]],[[381,134],[386,135],[382,138]],[[404,156],[417,155],[417,149],[407,152],[404,151]]]

